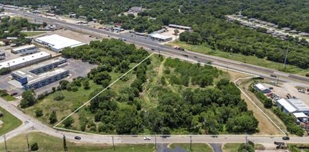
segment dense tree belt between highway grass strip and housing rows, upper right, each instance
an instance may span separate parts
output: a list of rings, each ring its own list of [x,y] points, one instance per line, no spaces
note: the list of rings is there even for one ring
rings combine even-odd
[[[230,53],[243,55],[255,55],[258,58],[266,58],[274,62],[284,62],[288,49],[288,64],[308,68],[309,48],[298,45],[297,42],[283,41],[273,38],[268,34],[262,34],[247,27],[240,27],[234,23],[222,19],[202,16],[205,23],[194,26],[193,33],[180,34],[180,40],[192,45],[207,43],[211,49],[218,49]]]

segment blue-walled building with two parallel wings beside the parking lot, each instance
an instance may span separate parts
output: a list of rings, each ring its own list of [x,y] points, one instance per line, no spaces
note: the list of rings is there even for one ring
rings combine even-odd
[[[66,62],[67,60],[65,58],[55,58],[41,62],[38,65],[13,71],[11,75],[26,90],[36,89],[69,76],[69,71],[61,68],[66,65]]]

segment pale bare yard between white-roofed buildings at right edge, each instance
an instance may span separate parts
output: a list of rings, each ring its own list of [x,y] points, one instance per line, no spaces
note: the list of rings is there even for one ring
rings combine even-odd
[[[286,98],[286,94],[289,93],[292,97],[294,96],[297,99],[301,99],[301,101],[304,101],[309,105],[309,92],[298,92],[297,88],[299,88],[299,86],[297,86],[297,84],[283,83],[279,84],[279,86],[274,86],[267,82],[268,81],[266,81],[266,83],[263,83],[263,85],[266,88],[273,87],[272,92],[277,94],[280,98]]]

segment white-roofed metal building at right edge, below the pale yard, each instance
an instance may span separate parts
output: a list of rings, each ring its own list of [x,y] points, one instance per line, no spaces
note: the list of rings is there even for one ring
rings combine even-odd
[[[309,106],[300,99],[279,99],[277,107],[281,108],[286,114],[302,112],[308,116]]]

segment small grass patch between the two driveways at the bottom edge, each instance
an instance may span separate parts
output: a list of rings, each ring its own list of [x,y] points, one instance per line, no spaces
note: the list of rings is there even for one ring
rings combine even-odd
[[[181,147],[186,151],[190,151],[190,144],[170,144],[170,149],[175,147]],[[211,147],[208,144],[192,144],[192,151],[194,152],[212,152]]]

